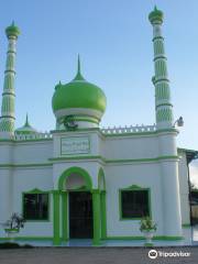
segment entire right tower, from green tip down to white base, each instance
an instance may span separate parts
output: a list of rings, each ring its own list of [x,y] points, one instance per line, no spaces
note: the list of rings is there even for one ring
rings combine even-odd
[[[167,77],[164,37],[162,36],[163,12],[155,7],[148,15],[153,25],[155,76],[155,111],[157,125],[161,194],[163,217],[161,228],[167,238],[182,238],[182,215],[178,182],[177,130],[173,124],[169,80]]]

